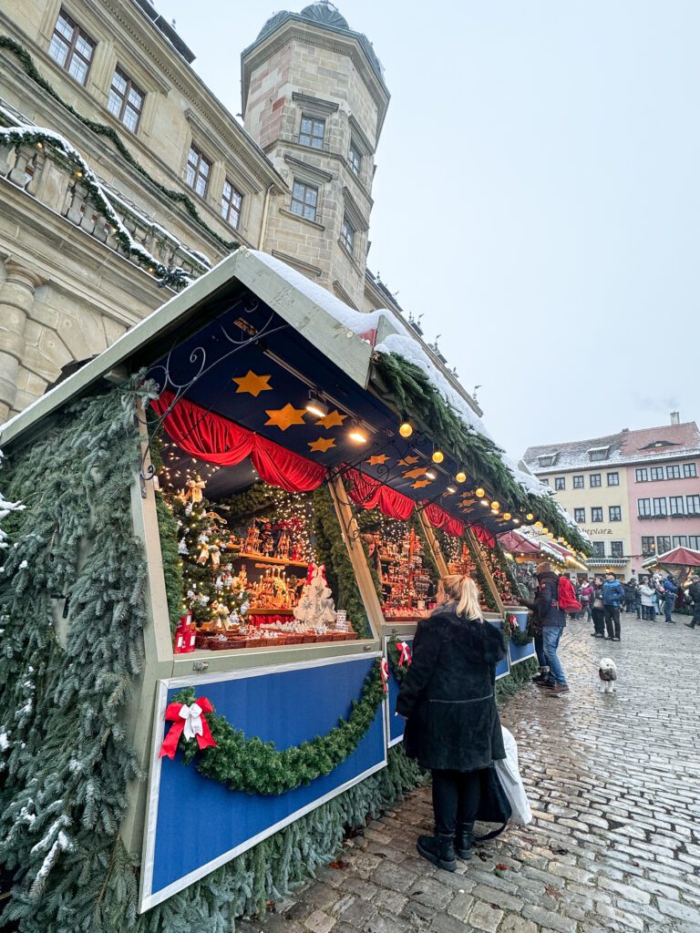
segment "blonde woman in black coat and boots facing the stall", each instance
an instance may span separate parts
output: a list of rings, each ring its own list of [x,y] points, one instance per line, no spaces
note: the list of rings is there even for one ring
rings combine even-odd
[[[408,720],[406,754],[433,778],[435,835],[419,836],[418,852],[448,871],[455,854],[471,857],[483,769],[506,757],[495,696],[506,651],[500,630],[483,621],[476,583],[442,579],[438,605],[418,623],[396,708]]]

